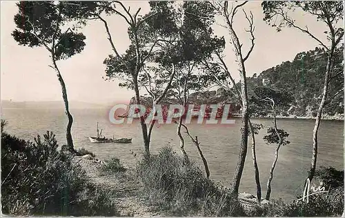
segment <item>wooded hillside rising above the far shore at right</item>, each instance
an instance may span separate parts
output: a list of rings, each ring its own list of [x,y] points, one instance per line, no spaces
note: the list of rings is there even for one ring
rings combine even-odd
[[[324,108],[324,115],[344,114],[344,63],[343,53],[336,57],[332,79],[329,81],[329,102]],[[324,72],[327,57],[324,51],[315,48],[296,55],[293,61],[264,70],[259,75],[248,78],[248,93],[255,86],[266,86],[277,90],[287,90],[295,101],[290,108],[285,108],[287,115],[315,117],[319,101],[322,98]],[[340,92],[339,92],[340,91]],[[334,95],[337,94],[335,97]],[[333,99],[334,97],[334,99]]]

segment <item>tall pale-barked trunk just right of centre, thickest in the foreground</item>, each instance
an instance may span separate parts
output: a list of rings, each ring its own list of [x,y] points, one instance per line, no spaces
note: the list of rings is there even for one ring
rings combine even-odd
[[[244,162],[246,161],[247,146],[248,146],[248,95],[247,95],[247,82],[246,82],[246,68],[244,66],[244,59],[242,57],[241,45],[239,39],[233,30],[232,24],[227,19],[229,34],[233,46],[235,47],[235,61],[237,62],[240,83],[241,83],[241,94],[242,94],[242,126],[241,126],[241,146],[239,148],[239,157],[237,159],[235,175],[233,177],[233,185],[231,187],[232,194],[237,198],[239,183],[242,178],[242,172],[244,169]]]

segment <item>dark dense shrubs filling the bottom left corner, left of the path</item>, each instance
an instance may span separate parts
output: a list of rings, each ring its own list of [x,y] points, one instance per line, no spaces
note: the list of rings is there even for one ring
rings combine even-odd
[[[2,132],[1,209],[9,215],[116,215],[111,192],[92,186],[47,132],[35,143]]]

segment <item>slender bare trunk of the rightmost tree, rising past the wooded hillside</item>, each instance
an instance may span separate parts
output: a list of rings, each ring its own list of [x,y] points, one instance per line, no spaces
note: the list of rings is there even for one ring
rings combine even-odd
[[[315,175],[315,168],[316,168],[316,161],[317,161],[317,146],[318,146],[317,135],[319,132],[319,125],[320,125],[320,121],[322,117],[322,110],[324,110],[324,105],[327,98],[328,80],[331,75],[331,65],[332,65],[332,59],[333,59],[333,54],[334,54],[333,52],[334,50],[331,49],[331,52],[328,54],[326,75],[324,78],[324,90],[322,92],[322,99],[319,104],[319,108],[317,109],[317,115],[316,115],[315,125],[313,129],[313,157],[311,159],[311,170],[309,170],[308,172],[309,181],[311,181]]]

